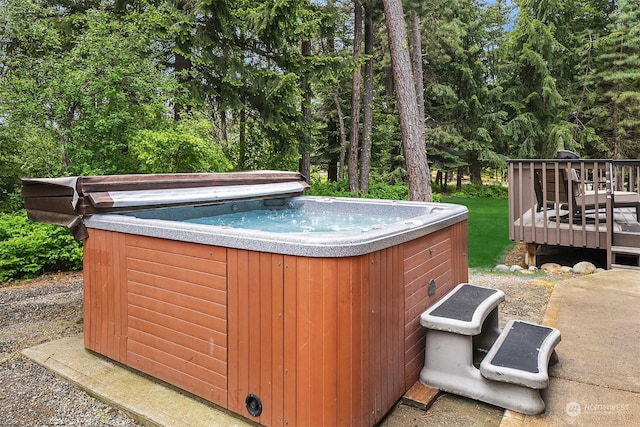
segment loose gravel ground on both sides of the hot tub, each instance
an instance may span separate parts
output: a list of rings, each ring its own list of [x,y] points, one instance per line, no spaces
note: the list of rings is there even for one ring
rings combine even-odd
[[[554,283],[567,276],[471,272],[470,282],[505,292],[501,323],[540,322]],[[0,425],[135,426],[122,412],[92,398],[20,351],[82,332],[82,275],[43,276],[0,287]]]

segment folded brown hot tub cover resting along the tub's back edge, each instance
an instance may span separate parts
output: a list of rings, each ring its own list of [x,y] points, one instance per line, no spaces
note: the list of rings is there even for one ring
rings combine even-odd
[[[281,171],[22,179],[29,218],[69,227],[78,240],[88,237],[87,215],[294,196],[307,188],[301,174]]]

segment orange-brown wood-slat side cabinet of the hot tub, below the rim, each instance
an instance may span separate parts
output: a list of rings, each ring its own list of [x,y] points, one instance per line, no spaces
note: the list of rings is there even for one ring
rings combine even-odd
[[[468,280],[466,220],[342,258],[88,231],[85,346],[266,426],[374,425],[418,381],[420,314]]]

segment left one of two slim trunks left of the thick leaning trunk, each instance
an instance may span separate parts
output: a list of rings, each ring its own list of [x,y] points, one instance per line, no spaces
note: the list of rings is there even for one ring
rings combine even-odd
[[[362,4],[353,2],[353,79],[351,81],[351,131],[349,132],[349,191],[358,193],[358,125],[360,124],[360,56],[362,54]]]

